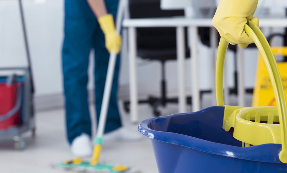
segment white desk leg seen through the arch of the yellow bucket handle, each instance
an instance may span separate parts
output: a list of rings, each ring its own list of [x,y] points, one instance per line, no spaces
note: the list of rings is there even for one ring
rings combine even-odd
[[[244,56],[243,49],[237,46],[237,75],[238,75],[238,106],[245,106],[245,84],[244,84]]]

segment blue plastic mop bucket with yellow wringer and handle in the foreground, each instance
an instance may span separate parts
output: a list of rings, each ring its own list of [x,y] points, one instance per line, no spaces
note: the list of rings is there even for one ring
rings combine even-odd
[[[287,171],[287,108],[280,74],[259,28],[247,21],[245,32],[263,57],[278,107],[224,106],[228,42],[221,38],[216,62],[217,106],[139,124],[139,132],[152,139],[160,173]]]

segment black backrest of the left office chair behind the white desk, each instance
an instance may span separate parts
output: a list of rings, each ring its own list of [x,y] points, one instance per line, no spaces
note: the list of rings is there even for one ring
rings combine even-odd
[[[183,10],[162,10],[160,0],[129,0],[130,18],[184,16]],[[137,28],[138,49],[176,47],[175,28]]]

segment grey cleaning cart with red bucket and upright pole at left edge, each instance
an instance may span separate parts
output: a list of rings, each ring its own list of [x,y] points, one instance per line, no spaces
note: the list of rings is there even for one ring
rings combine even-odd
[[[13,139],[16,149],[24,149],[21,135],[35,136],[33,80],[22,1],[19,0],[28,67],[0,68],[0,139]]]

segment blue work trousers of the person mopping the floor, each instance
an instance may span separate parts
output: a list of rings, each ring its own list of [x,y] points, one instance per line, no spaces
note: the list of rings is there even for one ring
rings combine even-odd
[[[108,13],[116,18],[118,0],[106,0]],[[91,120],[88,106],[88,65],[90,50],[94,49],[94,82],[96,114],[99,120],[109,53],[104,34],[86,0],[65,0],[65,38],[62,49],[63,81],[67,138],[86,133],[91,136]],[[117,105],[119,62],[117,57],[105,132],[121,126]]]

